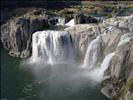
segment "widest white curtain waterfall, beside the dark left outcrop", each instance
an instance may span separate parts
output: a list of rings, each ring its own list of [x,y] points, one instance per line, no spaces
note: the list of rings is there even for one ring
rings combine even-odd
[[[39,31],[32,36],[32,62],[64,63],[74,61],[71,36],[65,31]]]

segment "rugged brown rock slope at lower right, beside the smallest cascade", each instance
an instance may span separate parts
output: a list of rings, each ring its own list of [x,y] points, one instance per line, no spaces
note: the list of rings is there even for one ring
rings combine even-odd
[[[128,82],[128,78],[133,77],[130,75],[132,73],[132,65],[133,32],[121,36],[115,55],[111,59],[111,64],[105,71],[105,80],[103,80],[101,92],[110,99],[118,99],[121,96],[121,92],[123,92],[122,88]]]

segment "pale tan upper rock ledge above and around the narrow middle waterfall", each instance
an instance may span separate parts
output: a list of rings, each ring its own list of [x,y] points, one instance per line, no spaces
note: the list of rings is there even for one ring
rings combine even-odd
[[[89,43],[99,34],[102,35],[105,42],[104,54],[107,55],[116,49],[121,35],[133,31],[133,15],[126,17],[116,17],[103,20],[99,24],[77,24],[73,27],[68,27],[68,31],[74,42],[78,56],[83,58]]]

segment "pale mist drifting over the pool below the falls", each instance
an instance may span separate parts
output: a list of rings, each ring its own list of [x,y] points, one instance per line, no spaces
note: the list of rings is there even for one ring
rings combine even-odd
[[[41,100],[60,100],[62,97],[71,97],[81,93],[81,97],[89,93],[98,92],[101,79],[98,79],[95,71],[88,68],[82,68],[82,64],[46,64],[46,63],[28,63],[38,82]],[[87,92],[88,93],[87,93]],[[90,92],[91,91],[91,92]],[[87,94],[86,94],[87,93]],[[78,96],[75,96],[78,98]],[[72,99],[73,100],[73,99]]]

